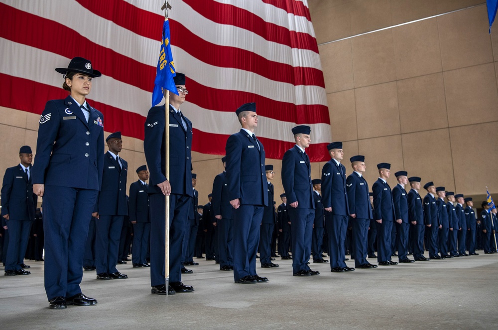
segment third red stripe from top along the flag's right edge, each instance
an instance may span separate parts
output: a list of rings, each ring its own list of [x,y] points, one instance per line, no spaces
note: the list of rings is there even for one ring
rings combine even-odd
[[[247,49],[215,45],[192,33],[177,21],[170,20],[170,26],[172,44],[207,64],[250,71],[273,81],[325,88],[321,70],[293,67],[289,64],[266,60]],[[241,61],[242,58],[243,61]]]

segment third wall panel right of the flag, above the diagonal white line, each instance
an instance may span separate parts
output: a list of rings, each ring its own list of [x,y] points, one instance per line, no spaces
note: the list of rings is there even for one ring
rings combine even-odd
[[[393,25],[436,14],[434,0],[391,0],[390,5]]]

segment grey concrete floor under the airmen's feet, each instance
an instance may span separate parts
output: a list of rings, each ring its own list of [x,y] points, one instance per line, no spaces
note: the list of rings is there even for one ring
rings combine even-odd
[[[480,251],[482,252],[482,251]],[[351,273],[293,277],[292,260],[260,269],[268,283],[235,284],[214,261],[194,259],[183,282],[195,292],[150,294],[149,270],[118,265],[127,280],[84,272],[90,307],[49,310],[43,262],[31,275],[0,276],[0,329],[496,329],[498,256],[415,262]],[[393,258],[394,261],[397,258]],[[371,262],[373,262],[371,260]],[[347,262],[354,267],[353,261]],[[3,272],[3,268],[0,268]]]

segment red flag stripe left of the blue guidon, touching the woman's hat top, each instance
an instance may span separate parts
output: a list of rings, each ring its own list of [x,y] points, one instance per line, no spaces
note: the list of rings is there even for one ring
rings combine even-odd
[[[0,3],[3,22],[0,37],[13,42],[59,54],[67,58],[81,56],[106,76],[142,90],[152,91],[156,68],[135,61],[112,49],[88,40],[55,21]],[[155,29],[161,31],[162,23]],[[75,52],[77,49],[77,52]],[[159,43],[157,44],[159,54]],[[61,66],[63,63],[61,63]],[[62,79],[61,79],[62,81]]]

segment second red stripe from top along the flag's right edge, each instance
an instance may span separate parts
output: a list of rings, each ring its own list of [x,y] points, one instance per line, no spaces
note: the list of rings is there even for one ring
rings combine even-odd
[[[309,49],[318,53],[318,45],[313,36],[265,22],[261,17],[246,9],[217,1],[183,0],[183,2],[215,23],[237,26],[268,41],[287,45],[291,48]]]

